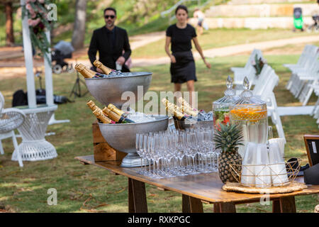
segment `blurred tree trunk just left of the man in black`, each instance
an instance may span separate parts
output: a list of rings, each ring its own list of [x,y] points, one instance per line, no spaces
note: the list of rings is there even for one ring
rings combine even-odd
[[[86,21],[86,0],[77,0],[75,9],[75,21],[72,35],[72,45],[75,50],[84,47]]]

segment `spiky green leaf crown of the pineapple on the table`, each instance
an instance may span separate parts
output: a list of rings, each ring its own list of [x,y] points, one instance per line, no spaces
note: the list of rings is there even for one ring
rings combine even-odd
[[[216,131],[214,142],[216,148],[225,153],[235,153],[242,143],[242,131],[239,126],[234,124],[220,125],[220,130]]]

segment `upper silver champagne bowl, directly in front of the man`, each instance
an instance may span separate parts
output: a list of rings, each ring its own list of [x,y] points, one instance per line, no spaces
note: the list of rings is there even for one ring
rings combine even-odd
[[[142,99],[150,87],[152,72],[123,72],[128,76],[109,78],[85,78],[86,87],[95,99],[101,104],[113,104],[121,109],[126,100],[122,100],[123,92],[133,92],[135,99],[128,100],[127,104],[133,104]],[[142,86],[143,94],[138,96],[138,86]]]

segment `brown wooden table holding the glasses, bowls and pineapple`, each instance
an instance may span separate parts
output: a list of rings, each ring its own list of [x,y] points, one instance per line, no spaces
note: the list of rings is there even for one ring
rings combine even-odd
[[[140,167],[121,167],[121,161],[94,162],[94,156],[75,157],[84,165],[96,165],[109,170],[116,175],[128,177],[128,212],[147,212],[145,183],[152,184],[159,189],[170,190],[182,194],[182,211],[186,213],[203,212],[203,204],[213,204],[214,212],[235,212],[236,204],[249,204],[265,199],[265,194],[245,194],[225,192],[222,189],[217,172],[209,174],[188,175],[152,179],[138,174]],[[303,178],[299,179],[303,181]],[[286,194],[270,194],[274,213],[296,212],[295,196],[319,194],[319,185],[309,185],[298,192]]]

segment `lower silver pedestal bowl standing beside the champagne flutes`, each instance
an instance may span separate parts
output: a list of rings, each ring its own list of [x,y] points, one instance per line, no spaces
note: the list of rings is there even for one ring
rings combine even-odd
[[[112,148],[128,153],[123,158],[122,166],[137,167],[140,166],[140,156],[135,149],[136,134],[166,131],[168,119],[168,116],[155,116],[155,121],[142,123],[99,123],[99,128],[103,138]]]

